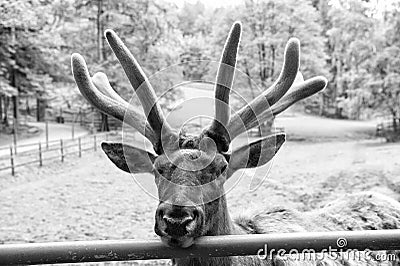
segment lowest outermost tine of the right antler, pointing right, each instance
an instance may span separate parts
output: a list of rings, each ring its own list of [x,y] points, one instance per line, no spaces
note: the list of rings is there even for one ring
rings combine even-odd
[[[263,112],[260,116],[257,117],[257,120],[249,124],[249,128],[253,128],[258,124],[268,119],[271,119],[273,116],[277,116],[278,114],[282,113],[287,108],[292,106],[294,103],[310,97],[311,95],[314,95],[319,91],[322,91],[327,84],[328,80],[325,77],[317,76],[294,85],[288,94],[283,96],[281,100],[279,100],[275,105],[272,106],[271,111]]]

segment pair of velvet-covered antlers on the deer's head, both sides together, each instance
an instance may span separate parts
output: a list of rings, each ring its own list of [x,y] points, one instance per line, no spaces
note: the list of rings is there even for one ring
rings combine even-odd
[[[278,115],[295,102],[317,93],[327,84],[324,77],[314,77],[294,85],[285,95],[299,69],[300,44],[296,38],[292,38],[286,45],[284,63],[278,80],[230,118],[229,94],[235,73],[241,28],[240,22],[235,22],[225,43],[215,86],[215,118],[202,134],[212,138],[220,152],[228,151],[231,140],[239,134],[264,122],[271,115]],[[90,78],[83,57],[73,54],[72,70],[78,88],[100,111],[136,128],[153,143],[154,150],[161,154],[165,148],[162,147],[162,139],[170,144],[176,140],[177,135],[168,125],[157,103],[154,89],[136,59],[115,32],[107,30],[105,36],[135,89],[146,116],[130,106],[112,89],[104,73],[96,73]],[[272,108],[268,109],[269,106]],[[124,120],[124,117],[127,119]]]

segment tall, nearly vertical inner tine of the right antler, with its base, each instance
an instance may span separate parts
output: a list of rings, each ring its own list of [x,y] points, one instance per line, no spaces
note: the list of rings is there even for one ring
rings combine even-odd
[[[229,149],[230,138],[226,126],[229,123],[229,93],[232,87],[236,57],[242,32],[242,24],[235,22],[228,34],[215,85],[215,119],[205,134],[216,141],[217,148],[226,152]],[[222,140],[222,141],[221,141]]]

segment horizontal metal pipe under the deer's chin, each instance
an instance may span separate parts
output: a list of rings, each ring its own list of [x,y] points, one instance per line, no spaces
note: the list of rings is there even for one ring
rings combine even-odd
[[[267,245],[267,246],[266,246]],[[295,249],[320,252],[337,249],[400,250],[400,230],[336,231],[283,234],[207,236],[186,249],[171,248],[159,240],[101,240],[0,245],[1,265],[53,264],[179,257],[256,255]],[[335,250],[332,250],[335,251]]]

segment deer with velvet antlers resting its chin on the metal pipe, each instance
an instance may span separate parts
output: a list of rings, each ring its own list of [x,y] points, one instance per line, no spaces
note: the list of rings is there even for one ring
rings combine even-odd
[[[152,150],[115,142],[103,142],[101,147],[122,171],[154,176],[159,197],[154,231],[161,241],[170,247],[188,248],[202,236],[298,232],[310,228],[314,231],[400,228],[400,203],[372,192],[355,193],[309,212],[276,207],[231,218],[225,182],[239,169],[268,163],[286,137],[284,133],[274,133],[230,149],[232,140],[271,118],[271,114],[277,116],[327,85],[327,79],[322,76],[293,84],[299,72],[300,42],[291,38],[286,44],[277,80],[231,115],[229,97],[241,32],[242,24],[235,22],[217,71],[215,115],[210,125],[198,135],[184,134],[167,123],[147,76],[114,31],[106,30],[105,38],[134,88],[143,112],[115,92],[106,74],[98,72],[90,76],[84,58],[72,54],[73,76],[84,98],[101,112],[136,129],[152,144]],[[280,256],[265,260],[257,256],[207,256],[173,258],[172,262],[174,265],[352,265],[343,260],[299,262]],[[385,265],[374,260],[363,263]]]

